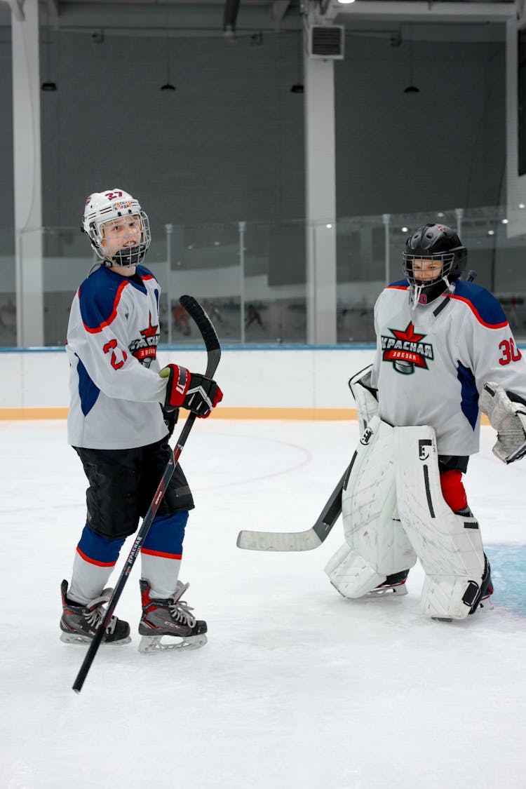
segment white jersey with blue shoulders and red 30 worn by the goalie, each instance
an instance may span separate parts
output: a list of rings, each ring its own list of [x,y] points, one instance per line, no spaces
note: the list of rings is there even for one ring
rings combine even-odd
[[[398,427],[430,424],[438,453],[479,451],[479,391],[500,383],[526,398],[526,365],[501,305],[483,287],[458,279],[428,305],[409,303],[406,279],[375,305],[377,347],[371,375],[379,415]]]

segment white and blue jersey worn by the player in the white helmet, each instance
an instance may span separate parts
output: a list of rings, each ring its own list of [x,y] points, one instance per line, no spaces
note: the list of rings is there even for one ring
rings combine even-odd
[[[159,282],[136,267],[141,285],[106,266],[80,285],[69,315],[68,441],[128,449],[166,436],[160,402]]]

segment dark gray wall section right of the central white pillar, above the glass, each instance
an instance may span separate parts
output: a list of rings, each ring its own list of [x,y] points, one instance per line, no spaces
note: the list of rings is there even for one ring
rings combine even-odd
[[[405,94],[409,47],[347,36],[335,69],[339,216],[498,205],[504,196],[504,42],[416,40],[420,93]]]

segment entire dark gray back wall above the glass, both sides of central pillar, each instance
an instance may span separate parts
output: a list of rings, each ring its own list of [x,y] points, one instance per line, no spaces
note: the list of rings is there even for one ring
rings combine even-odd
[[[43,18],[45,21],[45,16]],[[62,24],[62,21],[59,21]],[[493,26],[494,27],[494,26]],[[430,30],[433,28],[429,26]],[[95,29],[95,28],[94,28]],[[43,211],[76,226],[84,197],[121,185],[154,226],[304,215],[298,34],[170,39],[43,26]],[[504,43],[347,36],[335,64],[339,216],[498,204],[505,160]],[[466,33],[468,36],[468,33]],[[430,36],[431,38],[431,36]],[[13,223],[9,27],[0,28],[0,209]],[[323,151],[320,151],[323,155]]]

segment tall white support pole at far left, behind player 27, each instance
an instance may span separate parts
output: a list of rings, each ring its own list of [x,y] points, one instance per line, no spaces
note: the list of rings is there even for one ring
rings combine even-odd
[[[17,346],[43,346],[39,4],[11,13]]]

